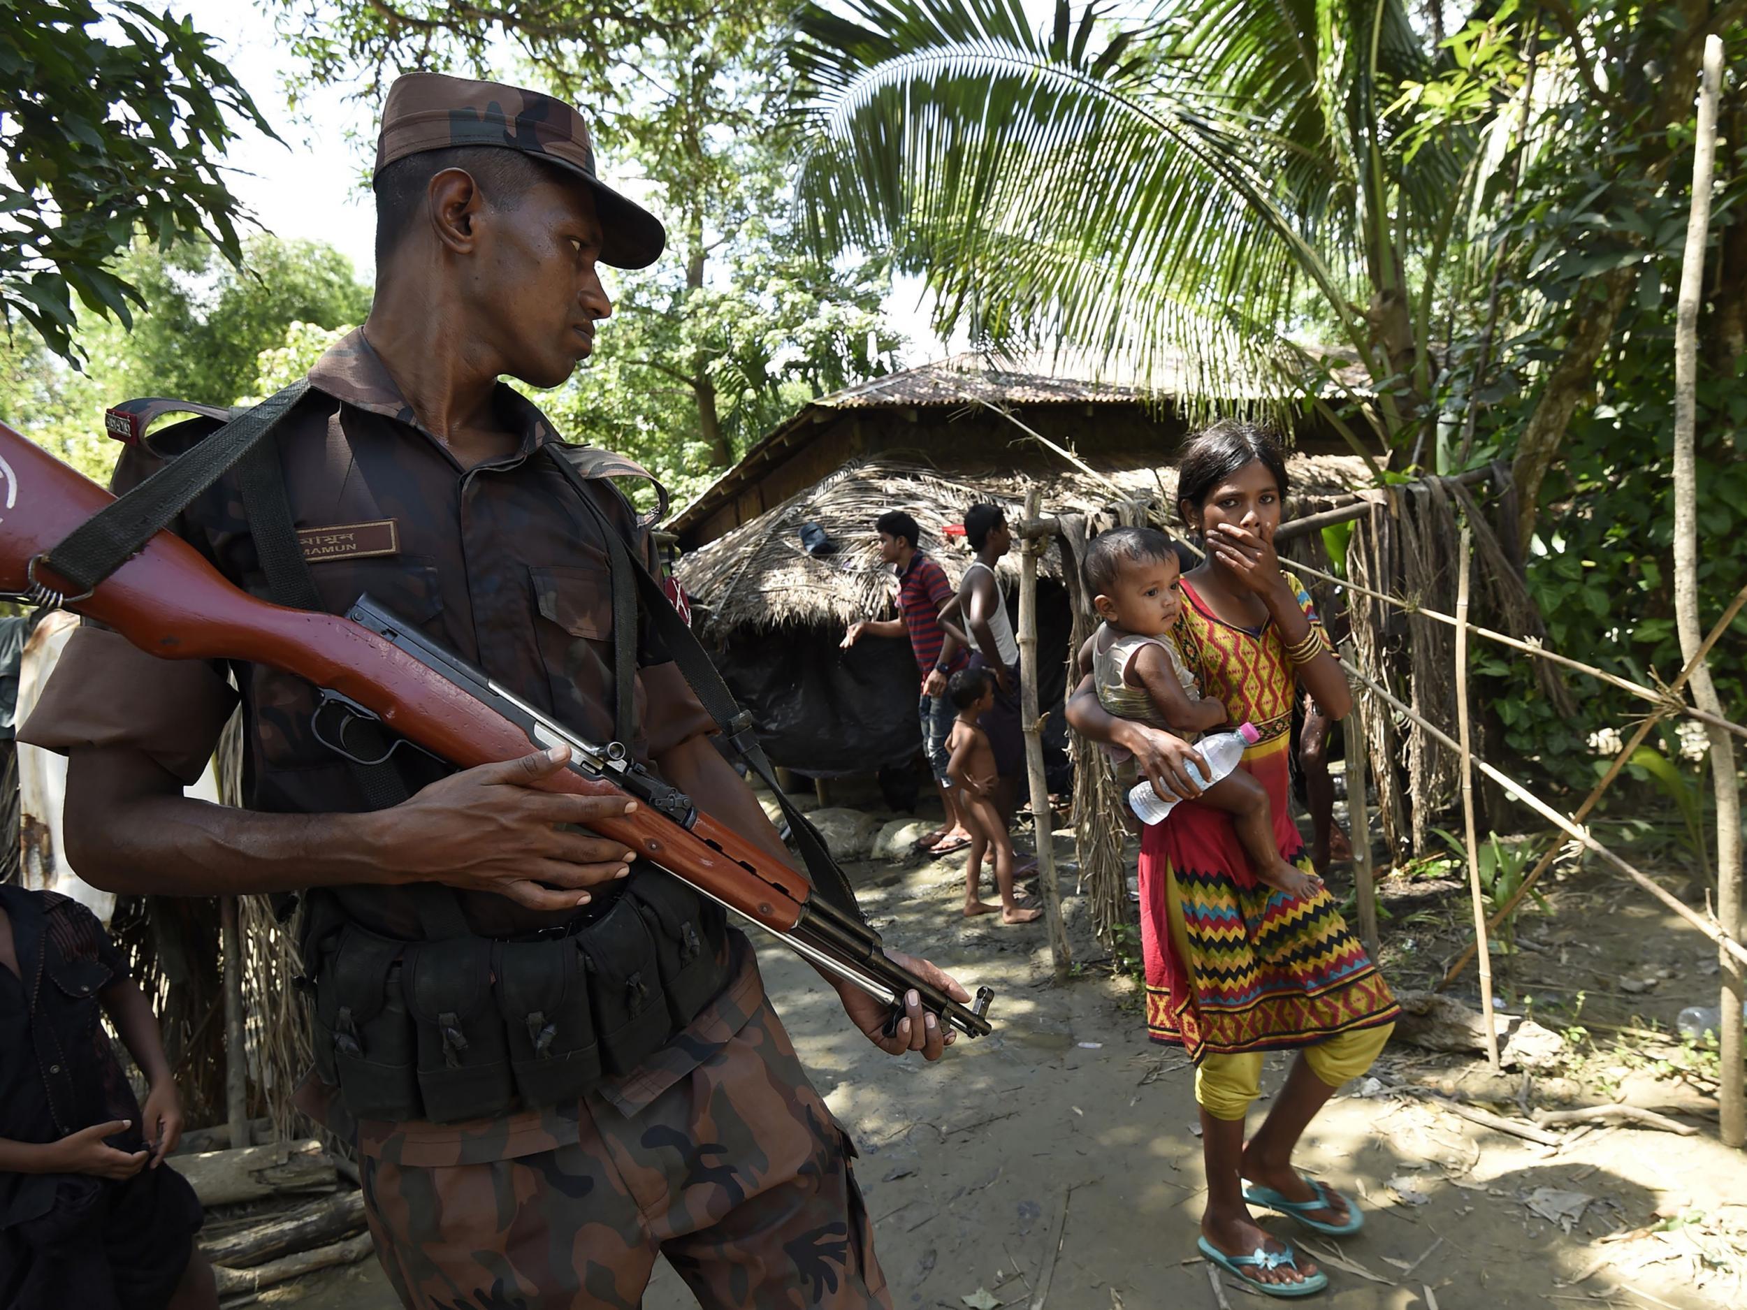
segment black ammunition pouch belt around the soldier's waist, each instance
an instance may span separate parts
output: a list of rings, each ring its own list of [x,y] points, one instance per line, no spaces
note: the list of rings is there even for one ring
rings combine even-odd
[[[306,915],[316,1072],[360,1120],[454,1123],[577,1099],[727,985],[723,912],[645,863],[597,917],[533,940],[402,941],[327,894]]]

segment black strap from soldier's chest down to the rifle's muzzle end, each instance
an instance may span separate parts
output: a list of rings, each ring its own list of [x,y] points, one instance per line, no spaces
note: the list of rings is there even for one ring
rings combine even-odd
[[[856,903],[856,893],[849,886],[849,879],[832,859],[832,852],[825,845],[825,838],[819,830],[812,826],[805,814],[802,814],[795,802],[791,802],[783,788],[777,786],[776,770],[770,769],[770,760],[763,753],[763,746],[753,735],[753,720],[739,704],[734,700],[734,693],[728,690],[727,683],[722,681],[722,674],[716,672],[716,665],[711,664],[709,655],[704,652],[697,636],[680,618],[673,603],[667,599],[667,592],[662,590],[660,583],[650,575],[631,548],[625,545],[618,529],[608,521],[601,508],[594,503],[594,496],[589,494],[589,479],[585,479],[556,447],[547,447],[552,456],[552,463],[557,465],[564,477],[570,479],[571,486],[577,487],[577,496],[589,508],[601,526],[601,534],[606,538],[606,555],[611,566],[613,582],[613,681],[615,681],[615,699],[624,704],[631,693],[631,681],[636,674],[636,624],[638,624],[638,601],[641,599],[650,622],[655,627],[655,636],[662,639],[667,646],[667,653],[673,655],[673,662],[680,665],[680,672],[690,685],[692,692],[697,695],[699,702],[709,711],[709,716],[722,728],[723,737],[734,751],[748,763],[748,767],[758,774],[770,795],[776,796],[777,805],[783,809],[783,817],[788,819],[788,830],[795,838],[795,845],[800,849],[800,858],[807,865],[807,873],[812,879],[814,889],[833,908],[847,914],[858,924],[867,924],[867,917],[861,914],[861,907]],[[631,585],[622,580],[629,578]]]

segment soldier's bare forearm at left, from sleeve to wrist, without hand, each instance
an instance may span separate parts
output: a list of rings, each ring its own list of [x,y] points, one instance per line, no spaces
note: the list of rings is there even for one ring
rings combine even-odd
[[[260,814],[182,795],[138,751],[75,749],[66,765],[66,854],[124,896],[227,896],[397,882],[370,814]]]

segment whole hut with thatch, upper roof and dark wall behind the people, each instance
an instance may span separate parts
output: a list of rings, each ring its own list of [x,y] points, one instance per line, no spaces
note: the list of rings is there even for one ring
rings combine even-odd
[[[847,624],[891,611],[894,582],[874,541],[880,512],[908,510],[922,526],[922,548],[957,582],[970,552],[945,529],[971,503],[1005,503],[1017,521],[1025,489],[1039,486],[1052,515],[1115,522],[1111,507],[1123,501],[1169,505],[1169,463],[1186,430],[1172,405],[1127,386],[957,356],[821,396],[760,440],[669,531],[683,550],[678,576],[701,636],[770,758],[835,777],[917,751],[908,646],[839,650]],[[1336,442],[1317,431],[1295,438],[1302,507],[1363,480],[1363,461],[1338,454]],[[807,534],[812,548],[804,543],[807,526],[823,529],[823,547],[816,531]],[[1060,569],[1052,543],[1038,589],[1045,706],[1060,702],[1073,624]],[[1013,603],[1017,554],[1005,573]]]

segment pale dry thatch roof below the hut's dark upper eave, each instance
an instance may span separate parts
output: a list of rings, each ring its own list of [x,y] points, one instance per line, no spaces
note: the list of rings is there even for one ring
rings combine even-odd
[[[1132,459],[1101,459],[1109,482],[1134,500],[1169,505],[1177,475],[1157,468],[1157,452]],[[1060,465],[1057,463],[1057,468]],[[1364,463],[1354,456],[1293,456],[1288,463],[1293,498],[1335,496],[1366,482]],[[1074,470],[940,468],[891,458],[846,465],[830,477],[751,519],[709,545],[685,555],[680,582],[704,611],[704,627],[781,629],[788,625],[840,627],[887,608],[896,583],[879,561],[874,519],[886,510],[908,510],[922,527],[922,550],[940,561],[957,583],[971,554],[963,538],[943,529],[959,524],[978,500],[1008,508],[1017,522],[1031,486],[1041,486],[1045,514],[1097,514],[1116,496],[1095,477]],[[811,555],[800,545],[802,524],[814,522],[832,538],[828,555]],[[1060,576],[1052,545],[1043,557],[1045,576]],[[1019,578],[1017,552],[1003,561],[1008,585]]]

